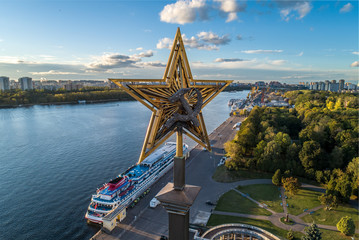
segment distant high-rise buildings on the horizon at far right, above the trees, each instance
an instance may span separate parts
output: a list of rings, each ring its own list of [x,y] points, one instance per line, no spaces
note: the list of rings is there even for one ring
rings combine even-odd
[[[304,85],[307,89],[316,91],[330,91],[330,92],[344,92],[344,91],[358,91],[358,86],[353,83],[345,83],[344,79],[325,80],[324,82],[300,82],[300,85]]]

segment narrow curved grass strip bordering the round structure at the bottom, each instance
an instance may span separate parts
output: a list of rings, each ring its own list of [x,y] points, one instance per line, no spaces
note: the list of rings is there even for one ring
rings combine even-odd
[[[242,223],[242,224],[253,225],[256,227],[260,227],[264,230],[267,230],[268,232],[273,233],[274,235],[276,235],[278,237],[282,237],[284,239],[286,239],[287,232],[288,232],[284,229],[274,226],[270,221],[233,217],[233,216],[224,216],[224,215],[217,215],[217,214],[211,215],[211,217],[208,220],[207,226],[217,226],[217,225],[226,224],[226,223]],[[300,239],[300,237],[302,235],[303,234],[301,234],[299,232],[294,232],[294,236],[297,239]]]

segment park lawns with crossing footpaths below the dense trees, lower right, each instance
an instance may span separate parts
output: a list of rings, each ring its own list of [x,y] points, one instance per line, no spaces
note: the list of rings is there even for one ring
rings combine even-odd
[[[304,235],[303,225],[315,222],[320,225],[322,239],[351,240],[351,237],[334,230],[337,222],[344,216],[352,217],[358,229],[358,210],[350,205],[339,205],[334,210],[325,211],[318,200],[320,195],[320,192],[301,188],[294,196],[285,192],[282,202],[281,189],[273,184],[239,185],[219,198],[207,226],[225,223],[249,224],[283,239],[286,239],[288,231],[292,229],[295,239],[300,239]],[[294,220],[294,225],[280,221],[285,216],[283,204],[287,206],[287,212]],[[301,226],[298,227],[299,225]],[[331,229],[333,227],[334,229]],[[354,237],[357,239],[359,234],[355,234]]]

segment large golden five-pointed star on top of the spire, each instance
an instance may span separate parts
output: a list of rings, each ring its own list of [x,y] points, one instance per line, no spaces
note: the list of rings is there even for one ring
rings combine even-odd
[[[179,28],[162,79],[109,80],[152,111],[139,163],[179,127],[187,136],[211,150],[201,109],[232,81],[194,80]],[[184,98],[174,101],[176,93],[182,93]],[[190,113],[195,118],[176,121],[179,115]]]

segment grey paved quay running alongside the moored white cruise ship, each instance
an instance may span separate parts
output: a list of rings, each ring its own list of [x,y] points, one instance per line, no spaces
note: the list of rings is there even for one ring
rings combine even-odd
[[[235,184],[215,182],[212,175],[220,158],[224,155],[223,144],[234,138],[233,125],[242,122],[244,117],[230,117],[210,135],[212,152],[196,146],[186,161],[186,179],[188,184],[201,186],[202,189],[191,208],[190,223],[206,224],[213,206],[206,201],[215,202],[220,195],[233,188]],[[151,187],[151,191],[134,208],[129,208],[126,218],[116,224],[111,233],[98,231],[91,240],[115,239],[160,239],[168,236],[168,214],[162,206],[149,208],[149,202],[168,182],[173,181],[172,171],[168,171]]]

